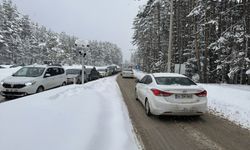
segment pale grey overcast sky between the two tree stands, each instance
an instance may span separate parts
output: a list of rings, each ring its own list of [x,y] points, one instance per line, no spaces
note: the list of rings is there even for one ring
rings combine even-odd
[[[18,10],[56,32],[110,41],[130,58],[132,22],[146,0],[12,0]],[[2,2],[2,0],[0,0]]]

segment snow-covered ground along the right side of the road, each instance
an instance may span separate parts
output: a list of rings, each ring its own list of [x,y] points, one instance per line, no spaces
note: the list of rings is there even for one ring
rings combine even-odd
[[[134,70],[136,78],[145,73]],[[208,92],[208,107],[212,114],[250,129],[250,86],[231,84],[199,84]]]

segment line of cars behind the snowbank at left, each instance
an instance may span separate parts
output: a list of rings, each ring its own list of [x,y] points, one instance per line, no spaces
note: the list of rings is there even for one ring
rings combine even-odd
[[[109,72],[109,67],[100,72],[95,67],[86,67],[84,71],[85,82],[113,75],[117,72]],[[81,69],[65,69],[61,65],[30,65],[19,69],[12,76],[0,82],[0,94],[5,98],[22,97],[39,93],[67,84],[82,81]]]

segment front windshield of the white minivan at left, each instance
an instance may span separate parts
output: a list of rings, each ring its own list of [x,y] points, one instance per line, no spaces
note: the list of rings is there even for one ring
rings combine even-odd
[[[43,74],[45,68],[42,67],[24,67],[18,70],[15,77],[39,77]]]

